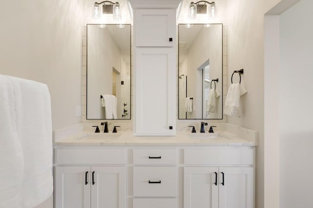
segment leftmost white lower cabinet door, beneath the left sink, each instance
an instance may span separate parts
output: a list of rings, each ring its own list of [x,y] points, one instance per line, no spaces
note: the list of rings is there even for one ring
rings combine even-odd
[[[55,208],[90,208],[90,167],[55,167],[54,177]]]

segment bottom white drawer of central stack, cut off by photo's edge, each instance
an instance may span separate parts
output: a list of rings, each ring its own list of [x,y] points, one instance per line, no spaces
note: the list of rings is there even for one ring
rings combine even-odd
[[[176,198],[134,198],[133,208],[176,208]]]

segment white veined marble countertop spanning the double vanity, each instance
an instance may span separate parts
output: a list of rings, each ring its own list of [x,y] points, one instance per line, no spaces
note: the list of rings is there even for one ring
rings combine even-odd
[[[134,136],[132,131],[117,133],[80,132],[54,146],[257,146],[257,143],[229,132],[177,132],[176,136]]]

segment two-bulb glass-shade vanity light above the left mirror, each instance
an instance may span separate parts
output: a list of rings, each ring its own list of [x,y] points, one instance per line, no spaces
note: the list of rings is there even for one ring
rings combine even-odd
[[[113,19],[115,20],[121,20],[121,6],[118,2],[113,3],[112,1],[102,1],[100,3],[94,2],[93,4],[93,16],[94,19],[99,19],[99,13],[100,13],[100,5],[102,5],[102,14],[113,14]]]

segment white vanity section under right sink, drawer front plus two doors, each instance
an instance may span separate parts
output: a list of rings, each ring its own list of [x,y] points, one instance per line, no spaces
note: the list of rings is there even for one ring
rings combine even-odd
[[[184,208],[254,208],[253,149],[187,149],[184,158]]]

